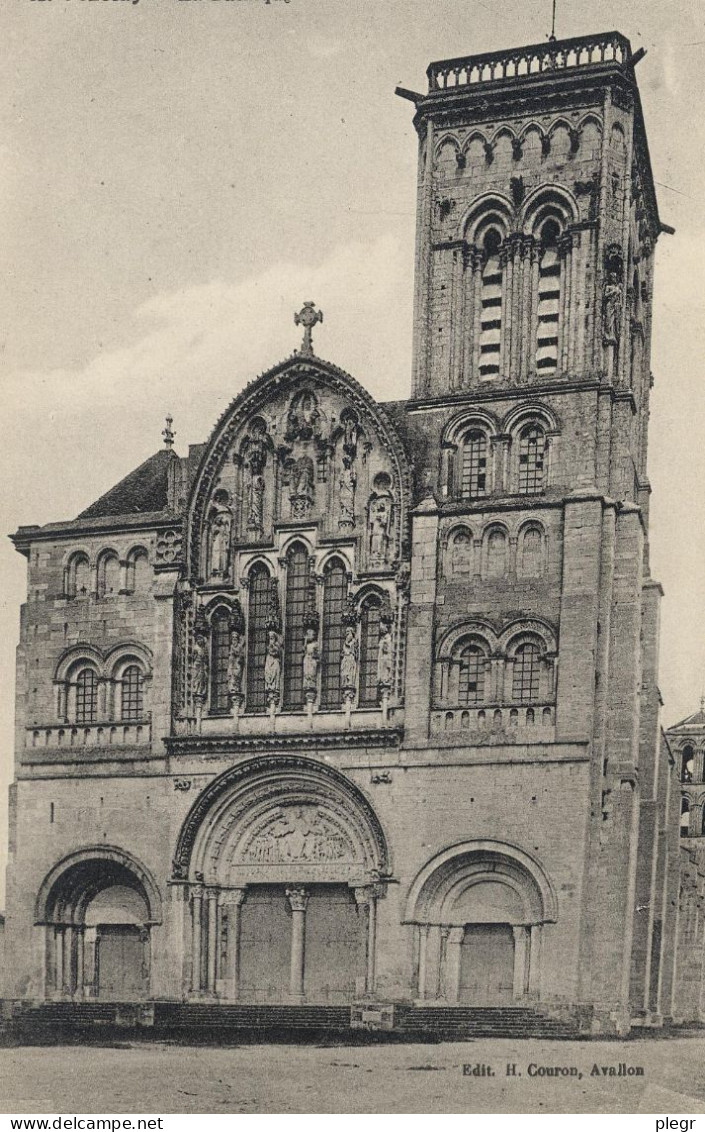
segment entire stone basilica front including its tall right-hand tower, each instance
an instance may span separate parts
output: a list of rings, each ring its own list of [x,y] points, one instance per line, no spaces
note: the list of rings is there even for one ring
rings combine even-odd
[[[673,1015],[637,62],[611,33],[397,92],[410,400],[306,302],[205,444],[167,422],[16,532],[9,997]]]

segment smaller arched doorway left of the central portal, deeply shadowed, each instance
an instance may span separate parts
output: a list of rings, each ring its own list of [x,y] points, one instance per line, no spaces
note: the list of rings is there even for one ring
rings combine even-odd
[[[46,996],[148,998],[151,929],[161,918],[156,885],[122,850],[84,849],[59,863],[36,901],[46,934]]]

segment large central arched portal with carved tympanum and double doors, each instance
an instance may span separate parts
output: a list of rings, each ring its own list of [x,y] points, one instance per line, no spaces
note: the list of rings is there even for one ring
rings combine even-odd
[[[181,831],[189,992],[240,1002],[351,1002],[375,985],[387,849],[361,791],[298,756],[215,779]]]

